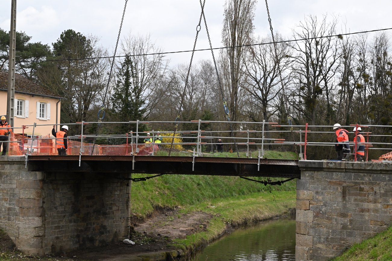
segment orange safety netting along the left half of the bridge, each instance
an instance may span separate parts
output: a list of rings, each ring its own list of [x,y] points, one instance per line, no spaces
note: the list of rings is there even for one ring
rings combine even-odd
[[[40,137],[32,140],[19,134],[11,134],[8,155],[24,155],[29,152],[32,155],[58,155],[56,143],[50,136]],[[156,153],[159,150],[156,144],[140,144],[137,146],[139,152],[136,153],[136,144],[121,145],[98,145],[93,143],[82,143],[82,155],[135,155],[148,156],[152,150]],[[79,155],[80,141],[68,140],[68,155]]]

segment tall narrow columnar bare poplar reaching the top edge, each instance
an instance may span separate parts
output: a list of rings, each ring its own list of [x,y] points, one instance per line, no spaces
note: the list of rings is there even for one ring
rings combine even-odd
[[[223,83],[229,94],[228,105],[232,121],[236,121],[240,110],[241,78],[243,70],[242,45],[252,42],[255,0],[227,0],[223,18],[222,42],[229,47],[221,51]]]

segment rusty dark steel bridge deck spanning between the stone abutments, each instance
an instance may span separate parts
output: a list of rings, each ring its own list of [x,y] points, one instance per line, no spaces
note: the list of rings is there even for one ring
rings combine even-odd
[[[37,170],[300,178],[298,160],[185,156],[29,156]],[[134,168],[132,169],[132,165]],[[193,168],[193,170],[192,170]]]

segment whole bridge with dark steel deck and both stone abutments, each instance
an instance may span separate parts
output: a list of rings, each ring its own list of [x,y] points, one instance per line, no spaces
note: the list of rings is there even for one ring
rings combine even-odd
[[[243,133],[247,140],[250,131]],[[203,157],[201,136],[199,129],[195,136],[199,141],[193,144],[197,149],[189,156],[141,156],[141,150],[150,152],[146,155],[159,150],[154,144],[149,149],[137,144],[138,138],[131,145],[110,145],[117,149],[106,150],[125,151],[125,155],[89,155],[98,145],[80,141],[74,147],[78,154],[59,156],[53,152],[55,147],[47,146],[49,137],[31,137],[25,155],[0,157],[0,227],[25,254],[120,242],[128,237],[131,225],[132,173],[297,178],[296,258],[300,261],[328,260],[392,222],[389,161],[250,158],[246,149],[251,138],[241,144],[245,157]],[[263,145],[263,138],[254,139]],[[24,151],[19,141],[10,141],[14,143],[11,155],[13,150]],[[306,142],[305,138],[286,144]]]

